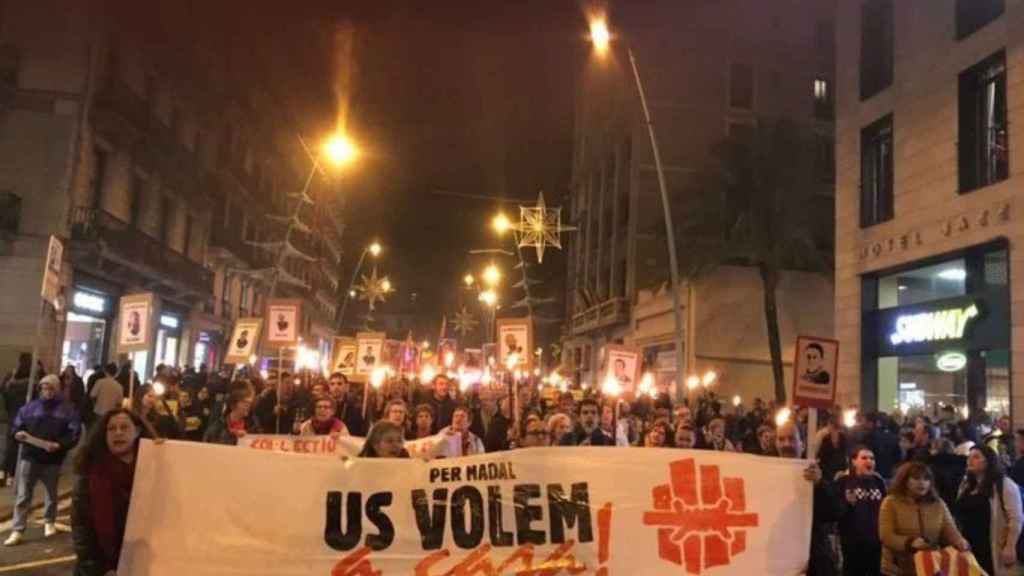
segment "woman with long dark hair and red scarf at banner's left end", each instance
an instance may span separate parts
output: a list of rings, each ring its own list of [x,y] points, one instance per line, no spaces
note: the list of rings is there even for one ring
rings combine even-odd
[[[110,576],[117,570],[141,429],[130,411],[112,410],[78,453],[71,512],[76,576]]]

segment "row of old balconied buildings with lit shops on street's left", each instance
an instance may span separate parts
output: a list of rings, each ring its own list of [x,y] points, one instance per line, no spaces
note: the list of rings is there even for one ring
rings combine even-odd
[[[48,370],[116,360],[118,301],[135,292],[161,302],[155,345],[132,355],[143,377],[216,367],[233,321],[262,316],[279,264],[298,282],[278,296],[303,299],[303,334],[330,346],[340,227],[313,203],[292,235],[304,257],[279,257],[292,222],[274,216],[302,202],[312,161],[280,84],[241,64],[253,58],[225,34],[237,17],[176,2],[0,6],[2,365],[32,348],[50,235],[66,251],[63,305],[43,308],[38,340]],[[333,121],[328,108],[309,125]],[[312,181],[310,198],[333,190]]]

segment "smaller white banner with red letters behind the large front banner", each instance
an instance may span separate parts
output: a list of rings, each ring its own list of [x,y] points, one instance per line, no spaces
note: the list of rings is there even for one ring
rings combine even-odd
[[[362,451],[367,439],[355,436],[285,436],[250,434],[239,439],[242,448],[289,454],[355,457]],[[406,441],[406,451],[413,458],[452,458],[462,456],[460,436],[437,434],[419,440]]]

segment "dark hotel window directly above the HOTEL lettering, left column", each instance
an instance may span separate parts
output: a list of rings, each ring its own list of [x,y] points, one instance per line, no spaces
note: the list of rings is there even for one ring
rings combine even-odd
[[[893,217],[893,119],[887,116],[860,132],[860,225]]]

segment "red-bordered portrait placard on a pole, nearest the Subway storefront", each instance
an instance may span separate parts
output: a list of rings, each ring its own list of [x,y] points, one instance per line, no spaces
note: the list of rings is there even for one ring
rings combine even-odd
[[[793,363],[794,404],[831,408],[836,404],[838,371],[839,340],[798,336]]]

